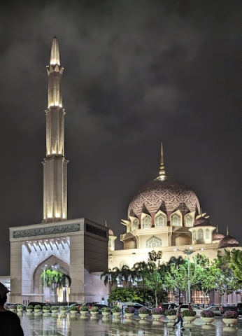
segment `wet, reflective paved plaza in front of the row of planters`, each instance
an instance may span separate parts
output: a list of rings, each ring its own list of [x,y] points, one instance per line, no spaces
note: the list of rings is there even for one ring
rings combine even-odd
[[[204,325],[200,318],[194,324],[185,324],[185,331],[180,326],[172,330],[172,323],[166,318],[161,321],[126,318],[85,318],[67,315],[62,317],[20,315],[24,336],[242,336],[242,319],[236,328],[226,327],[222,318],[215,318],[212,325]],[[7,335],[4,335],[7,336]]]

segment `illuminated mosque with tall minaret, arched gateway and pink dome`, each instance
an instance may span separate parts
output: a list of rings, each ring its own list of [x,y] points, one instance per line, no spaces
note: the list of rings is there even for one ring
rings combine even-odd
[[[222,235],[201,211],[197,195],[187,186],[166,176],[161,148],[159,175],[143,186],[129,203],[122,220],[123,250],[115,249],[117,237],[107,225],[87,218],[67,219],[67,166],[64,156],[64,116],[59,43],[53,38],[48,74],[46,156],[43,160],[43,221],[10,228],[10,301],[51,301],[50,288],[42,288],[41,274],[60,268],[71,276],[66,290],[69,302],[90,302],[108,297],[100,274],[108,268],[132,267],[147,261],[148,252],[162,251],[162,262],[171,256],[205,253],[212,260],[224,248],[239,246]],[[59,290],[59,301],[63,291]],[[229,300],[235,302],[236,298]],[[214,300],[215,302],[215,300]]]

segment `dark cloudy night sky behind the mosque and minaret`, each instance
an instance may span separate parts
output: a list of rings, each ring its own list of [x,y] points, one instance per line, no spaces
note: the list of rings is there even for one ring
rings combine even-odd
[[[159,172],[197,193],[242,243],[239,1],[6,1],[0,12],[0,275],[8,228],[41,223],[45,109],[57,36],[66,108],[68,218],[115,235]],[[119,248],[122,244],[117,244]]]

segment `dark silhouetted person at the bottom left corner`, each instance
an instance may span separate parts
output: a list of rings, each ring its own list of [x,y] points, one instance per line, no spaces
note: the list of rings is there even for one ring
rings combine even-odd
[[[20,318],[13,311],[4,308],[9,292],[3,283],[0,282],[0,335],[6,336],[24,336],[20,324]]]

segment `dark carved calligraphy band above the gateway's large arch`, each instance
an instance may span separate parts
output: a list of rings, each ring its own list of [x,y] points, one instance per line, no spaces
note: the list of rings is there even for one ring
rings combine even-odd
[[[36,237],[44,235],[55,235],[59,233],[80,231],[80,224],[58,225],[48,228],[36,228],[29,230],[13,231],[13,238]]]

